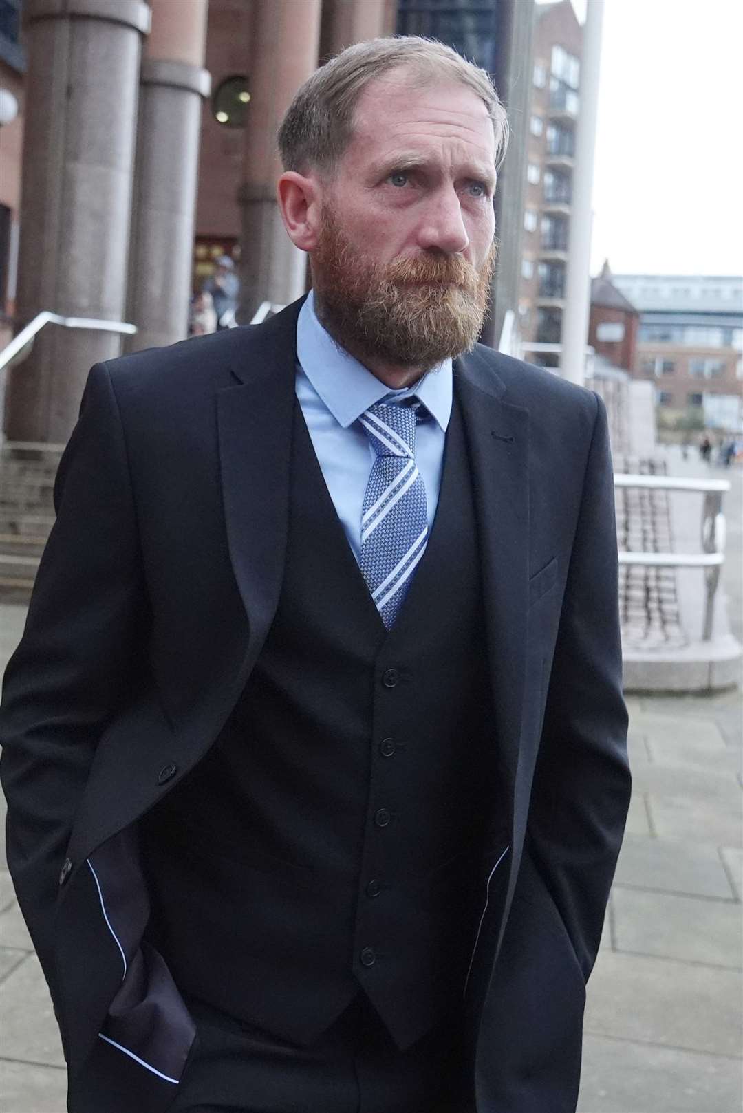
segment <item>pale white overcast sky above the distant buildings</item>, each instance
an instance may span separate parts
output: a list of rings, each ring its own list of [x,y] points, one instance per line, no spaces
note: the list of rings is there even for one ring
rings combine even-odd
[[[597,2],[592,272],[743,274],[743,3]]]

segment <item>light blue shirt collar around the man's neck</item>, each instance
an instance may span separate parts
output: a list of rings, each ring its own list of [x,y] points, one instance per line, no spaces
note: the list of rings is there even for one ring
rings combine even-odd
[[[317,318],[312,290],[296,323],[296,357],[302,370],[339,425],[348,429],[377,402],[398,402],[414,395],[446,432],[451,416],[451,359],[431,368],[412,386],[391,391],[335,343]]]

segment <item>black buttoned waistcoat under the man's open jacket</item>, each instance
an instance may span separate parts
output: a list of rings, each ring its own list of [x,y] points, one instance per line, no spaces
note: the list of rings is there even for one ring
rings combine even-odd
[[[473,943],[490,707],[458,406],[388,633],[297,404],[272,629],[208,756],[143,824],[151,934],[186,996],[297,1043],[360,987],[401,1047],[441,1018]]]

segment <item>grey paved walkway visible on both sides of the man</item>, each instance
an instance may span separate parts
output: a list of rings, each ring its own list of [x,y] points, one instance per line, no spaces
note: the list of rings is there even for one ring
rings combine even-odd
[[[22,617],[0,608],[0,653]],[[589,984],[579,1113],[740,1113],[740,693],[629,709],[634,795]],[[0,1109],[63,1113],[51,1007],[4,871],[0,981]]]

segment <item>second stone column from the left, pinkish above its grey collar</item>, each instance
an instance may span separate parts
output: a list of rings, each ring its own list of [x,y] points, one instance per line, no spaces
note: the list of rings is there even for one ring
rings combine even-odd
[[[129,351],[172,344],[188,331],[196,171],[208,0],[151,0],[139,88],[128,319]]]

